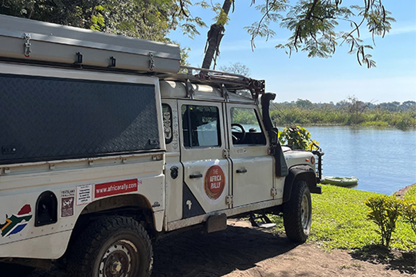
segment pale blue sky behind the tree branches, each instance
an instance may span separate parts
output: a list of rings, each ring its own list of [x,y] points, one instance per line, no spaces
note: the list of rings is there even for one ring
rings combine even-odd
[[[250,35],[243,27],[258,21],[260,14],[250,7],[250,3],[251,0],[236,1],[235,10],[229,15],[229,24],[225,26],[217,69],[235,62],[245,64],[250,69],[250,77],[266,80],[266,91],[277,93],[276,102],[308,99],[336,103],[349,96],[374,104],[416,100],[415,0],[383,1],[396,22],[392,23],[392,30],[384,38],[376,37],[376,46],[367,52],[376,61],[376,68],[372,69],[360,66],[356,55],[347,53],[347,44],[338,47],[328,59],[309,58],[306,52],[293,53],[289,57],[283,49],[275,48],[291,35],[279,26],[275,26],[276,35],[267,42],[257,39],[257,47],[252,51]],[[361,3],[361,0],[354,1],[354,4]],[[191,14],[202,17],[207,26],[213,22],[214,13],[210,10],[193,8]],[[182,47],[191,48],[188,59],[191,66],[200,67],[202,64],[208,29],[199,28],[200,35],[194,39],[183,35],[180,30],[169,35]],[[370,34],[361,33],[361,39],[372,44]]]

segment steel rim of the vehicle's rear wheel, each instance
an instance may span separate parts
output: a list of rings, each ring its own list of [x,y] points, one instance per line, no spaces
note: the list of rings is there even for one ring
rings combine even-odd
[[[132,276],[139,268],[139,253],[135,244],[128,240],[118,240],[110,245],[101,258],[99,277]]]

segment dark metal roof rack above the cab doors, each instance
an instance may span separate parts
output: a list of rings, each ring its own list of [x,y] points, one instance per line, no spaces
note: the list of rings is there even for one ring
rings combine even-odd
[[[200,69],[193,66],[180,66],[180,69],[186,71],[186,73],[162,74],[158,76],[164,80],[183,80],[184,82],[220,85],[221,87],[224,86],[230,92],[248,89],[254,100],[257,100],[259,95],[265,92],[264,80],[254,80],[239,74]],[[199,72],[194,74],[193,71]]]

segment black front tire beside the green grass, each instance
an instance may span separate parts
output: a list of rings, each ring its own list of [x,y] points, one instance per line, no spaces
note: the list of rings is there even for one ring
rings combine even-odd
[[[295,181],[291,199],[284,204],[283,222],[289,240],[304,243],[311,231],[312,201],[306,181]]]

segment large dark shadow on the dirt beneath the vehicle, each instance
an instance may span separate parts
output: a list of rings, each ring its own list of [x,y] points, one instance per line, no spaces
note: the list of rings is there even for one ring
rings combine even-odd
[[[204,235],[188,231],[155,245],[152,276],[223,276],[255,267],[296,245],[283,235],[239,226]]]

